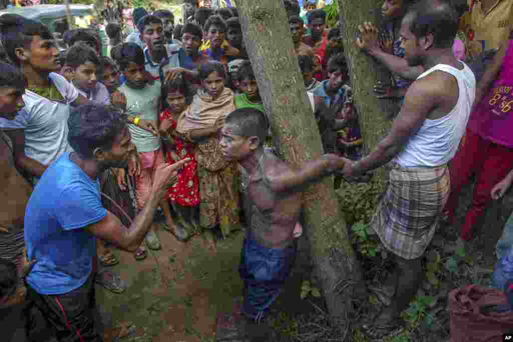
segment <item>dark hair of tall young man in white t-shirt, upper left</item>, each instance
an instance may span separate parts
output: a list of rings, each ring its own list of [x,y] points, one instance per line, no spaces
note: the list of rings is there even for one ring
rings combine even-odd
[[[0,16],[0,33],[5,53],[16,66],[20,65],[16,49],[30,48],[34,36],[53,41],[53,36],[46,25],[17,14],[7,13]]]

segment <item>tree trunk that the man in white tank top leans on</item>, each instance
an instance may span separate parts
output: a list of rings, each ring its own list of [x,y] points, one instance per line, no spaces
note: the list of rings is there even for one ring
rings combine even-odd
[[[381,81],[390,84],[390,74],[354,44],[360,31],[358,26],[372,22],[378,27],[381,20],[380,3],[376,0],[337,0],[349,76],[354,94],[354,106],[360,115],[360,127],[365,150],[372,150],[390,130],[392,118],[399,108],[390,100],[378,99],[372,87]],[[377,171],[382,180],[388,179],[384,168]]]

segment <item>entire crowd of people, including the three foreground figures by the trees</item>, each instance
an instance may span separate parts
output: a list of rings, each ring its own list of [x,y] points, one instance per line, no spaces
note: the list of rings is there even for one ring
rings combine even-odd
[[[427,246],[439,226],[455,223],[459,192],[476,174],[460,233],[463,243],[473,238],[487,205],[513,182],[513,1],[384,0],[384,25],[362,23],[355,46],[392,75],[373,91],[400,103],[367,155],[344,26],[328,29],[311,0],[283,3],[305,114],[317,120],[325,153],[299,169],[273,148],[272,113],[236,8],[184,0],[183,24],[174,25],[168,10],[117,11],[108,0],[108,56],[94,30],[69,29],[61,49],[44,24],[0,16],[8,58],[0,62],[0,308],[12,316],[23,306],[28,340],[41,340],[44,328],[59,341],[102,340],[94,284],[126,289],[108,269],[120,262],[111,249],[142,260],[147,248],[162,248],[160,227],[183,243],[202,235],[212,249],[245,230],[243,313],[259,323],[294,263],[302,191],[334,173],[366,182],[372,170],[390,169],[369,230],[396,267],[373,290],[384,309],[362,325],[371,338],[398,327],[422,283]],[[500,290],[513,281],[512,245],[513,215],[497,244]]]

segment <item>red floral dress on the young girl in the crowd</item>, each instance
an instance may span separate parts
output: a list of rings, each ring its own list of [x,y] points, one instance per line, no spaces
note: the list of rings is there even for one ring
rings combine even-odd
[[[176,120],[168,109],[160,114],[160,120],[170,119],[171,128],[176,129]],[[198,185],[198,163],[194,158],[194,145],[185,142],[182,138],[174,137],[175,145],[167,146],[166,159],[171,165],[184,158],[190,158],[178,173],[176,183],[169,188],[167,198],[183,207],[195,207],[200,204],[200,189]],[[171,150],[172,149],[172,150]],[[173,153],[174,152],[174,157]]]

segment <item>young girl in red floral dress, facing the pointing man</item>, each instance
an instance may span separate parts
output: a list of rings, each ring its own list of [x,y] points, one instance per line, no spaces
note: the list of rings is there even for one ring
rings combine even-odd
[[[194,158],[194,145],[176,132],[176,122],[187,107],[188,87],[183,77],[168,81],[162,87],[165,107],[160,114],[160,132],[165,146],[165,157],[169,164],[190,158],[178,174],[176,183],[168,190],[167,198],[175,211],[175,227],[166,227],[180,240],[186,240],[199,232],[198,208],[200,191],[198,186],[198,163]]]

